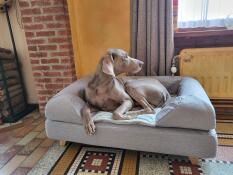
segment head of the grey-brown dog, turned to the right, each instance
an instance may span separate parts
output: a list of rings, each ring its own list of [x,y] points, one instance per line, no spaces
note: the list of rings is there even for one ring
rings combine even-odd
[[[109,49],[102,62],[102,71],[108,75],[119,75],[121,73],[136,74],[142,69],[144,63],[131,58],[122,49]]]

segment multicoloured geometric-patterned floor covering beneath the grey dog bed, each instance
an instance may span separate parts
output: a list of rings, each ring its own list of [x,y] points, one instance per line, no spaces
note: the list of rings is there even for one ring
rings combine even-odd
[[[183,156],[56,143],[29,175],[233,175],[233,122],[217,121],[217,132],[217,157],[198,165]]]

